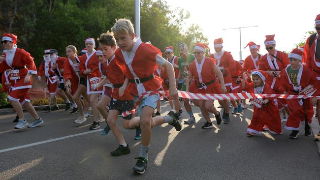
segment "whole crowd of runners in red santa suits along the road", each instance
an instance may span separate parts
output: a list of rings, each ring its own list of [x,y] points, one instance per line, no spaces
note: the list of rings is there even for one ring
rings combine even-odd
[[[144,43],[135,37],[129,20],[119,19],[110,32],[100,34],[97,39],[85,39],[85,48],[79,53],[73,45],[65,47],[66,57],[58,56],[58,51],[53,48],[44,50],[38,68],[28,52],[17,48],[17,36],[5,33],[1,39],[4,51],[0,56],[2,91],[8,92],[8,101],[17,114],[14,128],[39,126],[44,120],[34,110],[29,95],[32,75],[36,75],[39,82],[46,83],[50,92],[45,111],[59,110],[58,95],[65,101],[65,111],[79,114],[74,123],[81,124],[93,116],[90,129],[98,129],[100,123],[106,121],[101,135],[107,135],[111,130],[119,142],[119,147],[111,152],[112,156],[130,152],[116,123],[121,116],[123,127],[135,128],[134,139],[141,140],[133,171],[143,174],[147,167],[153,127],[168,123],[180,131],[182,121],[185,124],[195,123],[197,120],[191,103],[201,110],[205,119],[203,129],[213,128],[211,113],[218,125],[222,122],[229,124],[232,123],[230,113],[239,114],[246,108],[246,99],[218,100],[220,108],[223,108],[221,114],[213,99],[179,98],[178,90],[207,94],[319,95],[320,14],[315,20],[315,30],[317,32],[308,37],[304,47],[293,49],[289,54],[276,49],[275,35],[266,35],[264,46],[267,54],[260,55],[260,46],[249,42],[246,47],[251,55],[238,61],[224,50],[222,38],[214,40],[215,53],[208,57],[205,53],[208,46],[203,43],[196,43],[192,51],[186,43],[177,47],[168,46],[162,54],[150,42]],[[174,48],[178,49],[179,57],[174,55]],[[64,52],[59,52],[61,54]],[[160,93],[162,90],[168,93]],[[160,98],[167,99],[172,109],[165,116],[161,116]],[[183,114],[180,101],[189,115],[187,120],[179,119]],[[310,123],[314,117],[312,98],[253,98],[247,101],[254,109],[247,128],[248,136],[256,136],[262,131],[281,135],[281,121],[286,122],[284,128],[291,131],[290,138],[298,137],[300,121],[304,122],[304,135],[311,136]],[[316,102],[317,117],[320,100]],[[23,107],[34,118],[31,123],[25,119]],[[282,119],[280,112],[283,113]],[[320,140],[320,132],[315,140]]]

